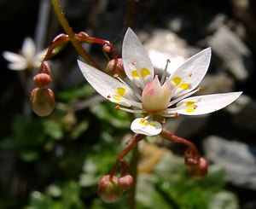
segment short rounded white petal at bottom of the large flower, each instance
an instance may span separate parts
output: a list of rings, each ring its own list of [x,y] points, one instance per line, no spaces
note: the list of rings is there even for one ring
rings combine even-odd
[[[131,123],[131,131],[147,136],[156,136],[160,134],[162,125],[160,125],[159,122],[148,120],[143,122],[143,120],[143,118],[133,120]]]

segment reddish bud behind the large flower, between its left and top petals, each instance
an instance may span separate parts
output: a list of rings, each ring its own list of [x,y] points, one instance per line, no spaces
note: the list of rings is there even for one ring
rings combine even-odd
[[[125,69],[123,60],[121,58],[117,59],[117,62],[115,63],[115,60],[108,61],[108,65],[106,67],[106,73],[108,73],[111,76],[118,75],[119,78],[125,78]]]

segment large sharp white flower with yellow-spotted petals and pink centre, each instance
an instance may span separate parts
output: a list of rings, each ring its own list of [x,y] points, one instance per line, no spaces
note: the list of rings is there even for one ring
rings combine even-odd
[[[178,114],[200,115],[212,113],[234,102],[242,92],[189,97],[207,73],[211,49],[207,48],[189,58],[177,70],[166,77],[166,69],[159,80],[147,52],[137,35],[129,28],[125,33],[122,49],[127,78],[112,78],[90,65],[79,61],[84,78],[109,101],[121,106],[118,109],[142,113],[131,123],[131,130],[147,136],[162,131],[161,123],[166,117]]]

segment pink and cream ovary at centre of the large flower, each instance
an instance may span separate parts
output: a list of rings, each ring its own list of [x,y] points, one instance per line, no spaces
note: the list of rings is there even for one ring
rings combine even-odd
[[[158,113],[165,111],[171,100],[171,96],[171,81],[166,79],[165,84],[161,86],[160,81],[156,76],[154,80],[146,84],[143,90],[143,108],[148,113]]]

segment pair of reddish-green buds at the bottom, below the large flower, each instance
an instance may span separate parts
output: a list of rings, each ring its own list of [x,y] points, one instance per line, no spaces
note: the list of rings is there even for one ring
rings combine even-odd
[[[107,203],[116,202],[124,191],[131,189],[133,184],[133,177],[130,174],[123,177],[106,175],[100,179],[97,193]]]

